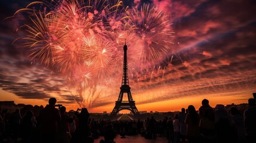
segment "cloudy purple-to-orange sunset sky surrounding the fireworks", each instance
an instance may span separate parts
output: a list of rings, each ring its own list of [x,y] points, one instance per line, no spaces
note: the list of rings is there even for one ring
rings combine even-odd
[[[88,107],[90,112],[112,111],[120,92],[122,66],[105,68],[119,74],[103,79],[97,76],[79,95],[81,85],[76,87],[70,81],[72,76],[29,56],[26,41],[20,39],[26,35],[21,27],[29,16],[21,13],[7,18],[30,2],[0,3],[0,101],[45,106],[55,97],[67,110]],[[129,86],[139,111],[177,111],[188,105],[198,109],[204,98],[212,107],[252,98],[256,92],[255,1],[135,0],[124,1],[124,5],[134,8],[143,2],[158,7],[174,33],[164,38],[172,42],[165,55],[148,65],[136,61],[143,63],[140,68],[129,66]],[[136,45],[128,41],[127,46],[129,64]],[[101,75],[100,70],[93,74]]]

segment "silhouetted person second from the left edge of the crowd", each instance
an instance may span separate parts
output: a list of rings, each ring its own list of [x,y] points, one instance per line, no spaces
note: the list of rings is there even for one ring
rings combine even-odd
[[[17,139],[18,139],[18,133],[20,130],[20,121],[21,121],[20,110],[16,109],[16,111],[14,111],[14,113],[11,114],[11,117],[10,117],[11,127],[13,128],[14,142],[17,142]]]

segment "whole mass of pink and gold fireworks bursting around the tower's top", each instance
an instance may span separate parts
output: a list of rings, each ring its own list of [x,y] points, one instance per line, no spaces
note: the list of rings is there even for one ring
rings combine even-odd
[[[33,5],[40,5],[38,11]],[[132,79],[150,86],[156,65],[171,52],[171,23],[154,6],[129,10],[117,0],[63,0],[32,2],[14,15],[24,11],[29,11],[30,22],[24,24],[23,39],[31,59],[53,66],[73,82],[80,106],[93,107],[105,92],[101,85],[113,86],[122,76],[125,40]]]

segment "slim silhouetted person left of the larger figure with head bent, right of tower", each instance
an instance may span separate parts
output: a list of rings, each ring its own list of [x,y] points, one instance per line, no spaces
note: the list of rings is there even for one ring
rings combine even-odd
[[[185,123],[186,116],[185,108],[181,108],[181,113],[178,114],[178,121],[180,122],[180,136],[182,142],[185,142],[187,135],[187,124]]]

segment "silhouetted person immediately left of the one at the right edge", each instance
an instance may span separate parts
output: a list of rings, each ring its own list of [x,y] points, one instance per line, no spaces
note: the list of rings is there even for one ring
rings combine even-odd
[[[232,115],[232,120],[235,122],[238,142],[243,143],[245,142],[245,126],[243,125],[243,116],[236,107],[232,107],[230,109],[230,114]]]

